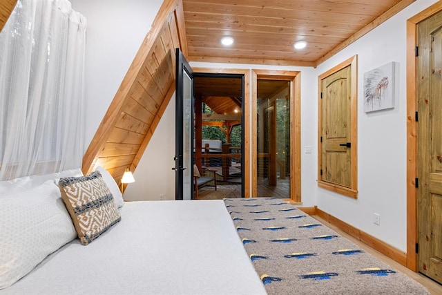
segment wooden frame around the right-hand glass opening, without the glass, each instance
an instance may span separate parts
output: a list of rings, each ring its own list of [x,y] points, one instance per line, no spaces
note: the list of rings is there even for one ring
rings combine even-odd
[[[290,82],[290,196],[288,199],[301,204],[301,96],[300,71],[252,70],[251,96],[251,196],[258,196],[257,142],[258,132],[256,104],[258,102],[258,79],[271,79]]]

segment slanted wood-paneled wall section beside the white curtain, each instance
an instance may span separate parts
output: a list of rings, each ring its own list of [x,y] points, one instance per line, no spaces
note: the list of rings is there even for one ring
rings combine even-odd
[[[108,170],[117,183],[135,171],[175,92],[175,48],[187,53],[182,3],[166,0],[83,158],[82,170]]]

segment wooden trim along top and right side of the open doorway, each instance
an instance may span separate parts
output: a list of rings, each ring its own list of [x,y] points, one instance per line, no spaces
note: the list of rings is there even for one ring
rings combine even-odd
[[[244,198],[251,198],[251,172],[250,172],[250,70],[248,69],[238,69],[238,68],[192,68],[193,73],[207,73],[207,74],[239,74],[244,75],[244,99],[242,99],[243,109],[244,109],[244,155],[242,171],[244,173]]]

